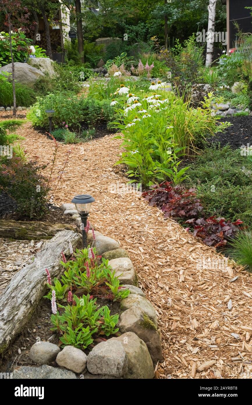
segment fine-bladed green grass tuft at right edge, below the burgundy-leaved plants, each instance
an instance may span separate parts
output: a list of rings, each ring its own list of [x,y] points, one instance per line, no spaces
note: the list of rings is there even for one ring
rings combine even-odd
[[[227,254],[246,270],[252,272],[252,234],[240,231],[235,239],[229,241]]]

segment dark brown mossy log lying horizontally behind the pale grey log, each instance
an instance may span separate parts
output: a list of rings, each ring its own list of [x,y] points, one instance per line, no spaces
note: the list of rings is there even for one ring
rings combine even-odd
[[[0,237],[38,241],[51,239],[62,230],[74,230],[73,225],[47,224],[46,222],[0,220]]]

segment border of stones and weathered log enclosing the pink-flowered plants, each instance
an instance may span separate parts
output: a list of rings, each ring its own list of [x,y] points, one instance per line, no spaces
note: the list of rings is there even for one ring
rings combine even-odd
[[[80,226],[80,218],[72,205],[63,204],[65,215],[72,215]],[[151,379],[154,368],[162,360],[161,335],[155,308],[138,287],[138,277],[125,249],[117,241],[98,231],[93,241],[88,232],[88,244],[96,246],[98,255],[108,264],[130,294],[121,302],[123,312],[117,326],[121,335],[110,337],[93,347],[88,355],[82,350],[65,346],[62,350],[49,341],[32,345],[29,356],[34,366],[20,366],[11,370],[14,379]],[[0,353],[3,355],[11,342],[28,322],[46,291],[47,268],[51,277],[63,273],[59,264],[61,252],[70,256],[69,242],[74,249],[80,245],[80,234],[73,231],[58,232],[36,254],[34,262],[25,266],[0,296]],[[112,335],[111,335],[112,336]],[[51,367],[56,361],[59,367]],[[4,370],[7,372],[7,370]]]

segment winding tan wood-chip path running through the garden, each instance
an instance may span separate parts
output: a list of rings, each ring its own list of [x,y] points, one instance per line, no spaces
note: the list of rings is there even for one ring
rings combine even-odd
[[[22,144],[30,158],[48,164],[48,174],[53,141],[29,123],[18,133],[25,136]],[[90,193],[95,198],[91,222],[129,252],[159,319],[164,358],[157,378],[252,378],[251,275],[233,262],[224,268],[199,267],[199,260],[220,263],[223,256],[175,221],[164,220],[136,193],[125,193],[127,179],[113,166],[120,142],[107,135],[74,145],[54,203]],[[70,148],[60,146],[54,182]]]

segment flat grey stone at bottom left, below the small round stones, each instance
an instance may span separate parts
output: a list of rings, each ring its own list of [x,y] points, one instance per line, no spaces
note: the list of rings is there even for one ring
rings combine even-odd
[[[13,370],[14,379],[77,379],[72,371],[43,364],[40,367],[22,366]]]

